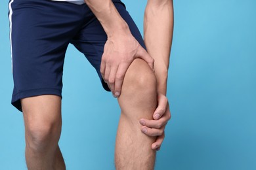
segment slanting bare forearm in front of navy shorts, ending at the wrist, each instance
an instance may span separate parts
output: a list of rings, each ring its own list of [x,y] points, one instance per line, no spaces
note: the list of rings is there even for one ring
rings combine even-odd
[[[127,23],[111,0],[85,0],[85,3],[93,11],[108,37],[112,37],[114,33],[130,33]]]

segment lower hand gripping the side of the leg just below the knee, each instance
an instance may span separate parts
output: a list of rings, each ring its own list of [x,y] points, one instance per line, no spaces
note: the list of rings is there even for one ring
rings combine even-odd
[[[156,142],[151,145],[151,148],[160,150],[165,137],[165,126],[168,120],[171,119],[168,99],[163,94],[158,94],[158,107],[153,114],[153,118],[153,120],[140,119],[141,131],[151,137],[157,136]]]

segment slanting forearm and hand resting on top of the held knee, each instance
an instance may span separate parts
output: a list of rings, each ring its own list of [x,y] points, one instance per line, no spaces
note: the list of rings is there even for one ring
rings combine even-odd
[[[144,59],[153,69],[154,59],[133,37],[111,0],[85,0],[108,36],[104,46],[100,73],[114,97],[121,93],[125,73],[135,58]]]

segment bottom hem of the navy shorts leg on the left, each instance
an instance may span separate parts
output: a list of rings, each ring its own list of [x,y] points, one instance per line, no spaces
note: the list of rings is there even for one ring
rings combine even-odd
[[[19,92],[12,95],[11,104],[14,107],[16,107],[16,109],[20,110],[20,112],[22,112],[22,105],[20,103],[20,99],[23,99],[26,97],[33,97],[37,95],[58,95],[62,97],[61,93],[62,93],[62,90],[58,90],[54,88],[40,88],[40,89],[26,90],[26,91]]]

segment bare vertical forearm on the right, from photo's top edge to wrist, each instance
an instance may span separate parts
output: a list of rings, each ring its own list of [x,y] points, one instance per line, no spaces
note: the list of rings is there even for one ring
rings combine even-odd
[[[173,39],[173,1],[148,0],[144,15],[144,42],[154,58],[158,92],[166,95],[169,56]]]

